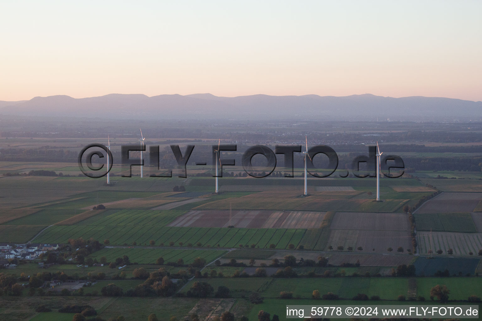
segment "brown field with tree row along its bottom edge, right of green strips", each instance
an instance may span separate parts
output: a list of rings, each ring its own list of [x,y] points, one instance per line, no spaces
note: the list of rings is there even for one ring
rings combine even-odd
[[[354,249],[362,246],[365,251],[388,253],[388,247],[397,249],[402,246],[405,250],[412,248],[412,239],[410,231],[331,230],[325,250],[328,250],[329,245],[335,249],[338,246],[343,246],[344,249],[348,246]]]

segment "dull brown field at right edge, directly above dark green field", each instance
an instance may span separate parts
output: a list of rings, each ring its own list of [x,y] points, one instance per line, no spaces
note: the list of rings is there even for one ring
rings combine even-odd
[[[472,212],[481,197],[482,193],[442,193],[420,206],[416,213]]]

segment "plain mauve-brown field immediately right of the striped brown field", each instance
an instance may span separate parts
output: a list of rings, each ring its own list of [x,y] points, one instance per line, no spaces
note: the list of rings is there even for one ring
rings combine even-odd
[[[336,212],[330,225],[338,230],[409,231],[406,214]]]

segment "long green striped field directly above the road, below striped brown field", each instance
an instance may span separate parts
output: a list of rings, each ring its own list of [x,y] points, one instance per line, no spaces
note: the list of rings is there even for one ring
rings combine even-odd
[[[202,247],[239,247],[255,244],[259,248],[268,248],[271,244],[277,249],[297,247],[305,234],[305,229],[240,229],[240,228],[196,228],[168,226],[91,226],[91,225],[55,225],[44,231],[36,242],[67,243],[71,238],[109,240],[110,244],[147,245],[155,241],[156,245]],[[190,244],[190,245],[189,245]]]

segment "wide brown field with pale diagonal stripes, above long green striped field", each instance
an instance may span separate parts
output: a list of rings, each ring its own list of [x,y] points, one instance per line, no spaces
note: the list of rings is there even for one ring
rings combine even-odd
[[[320,227],[323,212],[303,211],[189,211],[169,226],[309,229]]]

